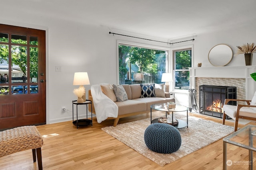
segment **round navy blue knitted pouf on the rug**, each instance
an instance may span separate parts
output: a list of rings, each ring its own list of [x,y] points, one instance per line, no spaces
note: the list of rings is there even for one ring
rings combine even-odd
[[[180,149],[180,132],[166,123],[149,125],[144,133],[144,141],[148,149],[158,153],[172,153]]]

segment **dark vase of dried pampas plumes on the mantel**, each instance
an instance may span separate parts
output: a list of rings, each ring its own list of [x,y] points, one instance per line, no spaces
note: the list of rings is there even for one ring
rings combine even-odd
[[[252,65],[252,53],[256,53],[256,45],[254,43],[244,44],[242,46],[236,46],[238,48],[236,54],[244,54],[245,65],[251,66]]]

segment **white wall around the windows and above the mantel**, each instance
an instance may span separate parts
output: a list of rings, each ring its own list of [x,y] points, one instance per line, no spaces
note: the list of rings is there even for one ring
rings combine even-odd
[[[13,15],[13,16],[12,16]],[[90,84],[117,83],[117,40],[131,41],[136,43],[146,43],[162,47],[179,47],[194,44],[194,61],[202,63],[202,67],[212,67],[208,62],[208,52],[217,44],[224,43],[230,45],[236,51],[237,45],[247,42],[254,42],[256,34],[253,33],[254,26],[231,27],[229,30],[218,30],[208,33],[196,33],[195,41],[188,41],[175,45],[166,45],[131,37],[110,35],[110,29],[104,26],[82,25],[65,20],[54,20],[52,18],[31,18],[31,16],[8,15],[1,18],[0,23],[18,25],[36,29],[44,29],[47,33],[47,123],[66,121],[72,119],[72,100],[76,100],[73,94],[74,72],[88,72]],[[252,23],[250,23],[252,24]],[[114,31],[114,30],[111,30]],[[115,31],[114,31],[115,32]],[[131,33],[124,33],[132,35]],[[134,36],[134,35],[132,35]],[[156,39],[153,37],[138,37]],[[156,39],[158,41],[167,41]],[[183,39],[173,40],[182,41]],[[256,60],[253,60],[253,64]],[[244,57],[234,57],[228,66],[244,66]],[[55,66],[61,66],[62,72],[56,72]],[[91,85],[86,85],[86,96]],[[178,95],[178,94],[177,94]],[[179,96],[175,97],[179,98]],[[188,98],[187,98],[188,99]],[[61,107],[66,106],[70,111],[62,112]],[[83,113],[81,107],[80,113]]]

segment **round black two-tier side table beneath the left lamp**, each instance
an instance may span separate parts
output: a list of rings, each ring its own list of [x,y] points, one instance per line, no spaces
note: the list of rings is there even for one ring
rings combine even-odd
[[[87,125],[92,125],[92,112],[91,112],[91,119],[88,119],[88,104],[91,105],[91,110],[92,110],[92,101],[91,100],[86,100],[83,103],[78,103],[77,100],[72,101],[72,109],[73,109],[73,125],[76,126],[78,129],[79,126],[87,126]],[[76,120],[74,120],[74,105],[76,105]],[[86,105],[86,119],[78,119],[78,110],[77,106],[78,105]]]

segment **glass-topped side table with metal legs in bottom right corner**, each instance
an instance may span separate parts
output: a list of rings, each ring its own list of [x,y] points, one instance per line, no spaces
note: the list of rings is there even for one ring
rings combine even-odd
[[[223,170],[227,169],[227,166],[231,166],[233,163],[239,161],[227,160],[227,143],[235,145],[249,150],[249,161],[245,161],[249,165],[249,170],[252,170],[252,151],[256,152],[256,126],[247,125],[242,129],[228,135],[223,138]]]

